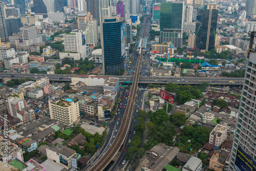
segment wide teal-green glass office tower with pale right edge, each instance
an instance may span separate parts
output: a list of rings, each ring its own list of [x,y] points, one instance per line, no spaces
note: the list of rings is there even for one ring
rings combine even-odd
[[[174,1],[161,4],[160,42],[172,42],[174,47],[182,47],[184,2]]]

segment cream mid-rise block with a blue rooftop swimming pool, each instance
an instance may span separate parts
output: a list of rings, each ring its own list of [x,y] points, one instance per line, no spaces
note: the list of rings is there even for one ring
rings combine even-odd
[[[77,99],[60,99],[48,100],[51,119],[58,120],[67,125],[72,125],[80,116],[79,100]]]

